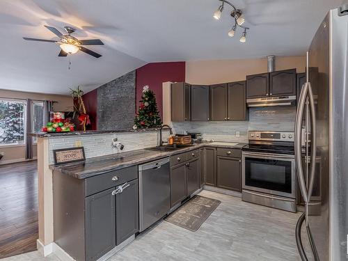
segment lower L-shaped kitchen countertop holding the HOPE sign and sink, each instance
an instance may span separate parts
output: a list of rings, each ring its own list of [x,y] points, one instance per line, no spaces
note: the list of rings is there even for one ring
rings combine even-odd
[[[156,159],[162,159],[182,152],[196,150],[202,147],[218,147],[218,148],[237,148],[242,149],[246,143],[229,143],[229,142],[202,142],[191,146],[180,148],[172,151],[154,151],[154,150],[132,150],[129,152],[120,152],[113,155],[106,155],[101,157],[94,157],[86,159],[86,161],[79,161],[63,165],[50,165],[54,171],[65,173],[78,179],[85,179],[93,177],[109,171],[116,171],[120,168],[127,168],[129,166],[144,164]]]

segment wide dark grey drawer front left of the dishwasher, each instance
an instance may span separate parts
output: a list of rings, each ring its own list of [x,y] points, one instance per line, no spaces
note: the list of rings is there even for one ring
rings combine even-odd
[[[138,166],[122,168],[118,171],[110,171],[94,177],[88,177],[85,180],[85,194],[86,196],[90,196],[136,178],[138,178]]]

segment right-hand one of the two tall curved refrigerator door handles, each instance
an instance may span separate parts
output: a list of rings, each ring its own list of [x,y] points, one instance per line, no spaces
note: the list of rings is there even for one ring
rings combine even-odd
[[[309,97],[309,105],[310,105],[310,132],[311,132],[311,143],[310,143],[310,159],[315,159],[317,156],[317,139],[316,139],[316,118],[315,118],[315,102],[313,96],[313,89],[308,83],[308,97]],[[310,161],[310,178],[309,178],[309,187],[308,187],[308,202],[310,201],[310,197],[313,192],[313,185],[315,179],[315,160]]]

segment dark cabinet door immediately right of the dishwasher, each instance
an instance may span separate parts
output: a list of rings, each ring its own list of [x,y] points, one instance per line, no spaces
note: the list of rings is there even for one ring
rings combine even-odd
[[[171,168],[171,207],[187,196],[186,162]]]

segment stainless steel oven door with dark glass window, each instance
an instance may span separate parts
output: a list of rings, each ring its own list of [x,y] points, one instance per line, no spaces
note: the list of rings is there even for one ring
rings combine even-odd
[[[242,188],[296,198],[294,155],[243,152]]]

